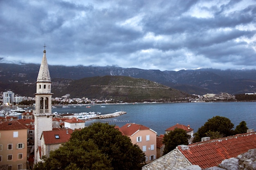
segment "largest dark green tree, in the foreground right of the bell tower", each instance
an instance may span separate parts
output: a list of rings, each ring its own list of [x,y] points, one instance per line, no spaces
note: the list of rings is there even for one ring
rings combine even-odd
[[[94,123],[72,133],[70,141],[34,170],[141,170],[145,155],[114,125]]]

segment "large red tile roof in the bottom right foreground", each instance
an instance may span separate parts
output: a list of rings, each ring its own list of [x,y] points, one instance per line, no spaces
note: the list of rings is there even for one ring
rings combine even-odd
[[[193,165],[210,168],[218,166],[224,159],[237,157],[249,149],[256,148],[256,132],[198,142],[189,146],[178,146],[177,148]]]

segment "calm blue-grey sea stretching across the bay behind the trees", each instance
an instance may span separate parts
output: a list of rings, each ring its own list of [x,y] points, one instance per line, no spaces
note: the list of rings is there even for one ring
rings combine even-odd
[[[256,130],[256,102],[96,104],[91,108],[70,105],[70,108],[57,106],[52,109],[52,112],[65,114],[82,112],[108,114],[116,111],[126,111],[127,114],[110,119],[89,120],[85,122],[85,126],[93,122],[108,122],[119,127],[127,123],[136,123],[147,126],[160,135],[177,123],[190,125],[196,132],[208,119],[223,116],[229,118],[234,127],[245,121],[249,129]]]

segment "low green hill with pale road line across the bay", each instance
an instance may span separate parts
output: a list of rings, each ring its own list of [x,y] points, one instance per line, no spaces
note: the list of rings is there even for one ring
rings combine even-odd
[[[54,96],[70,94],[71,98],[112,98],[123,102],[168,102],[191,97],[157,82],[125,76],[87,77],[52,87]]]

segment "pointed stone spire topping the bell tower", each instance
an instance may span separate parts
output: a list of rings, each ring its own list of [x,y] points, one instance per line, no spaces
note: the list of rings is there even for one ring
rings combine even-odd
[[[44,47],[46,47],[46,46],[44,46]],[[39,73],[38,73],[36,82],[51,82],[49,68],[48,68],[48,64],[47,64],[47,60],[46,60],[46,51],[44,50],[43,53],[44,53],[43,60],[41,62],[41,66],[39,69]]]

